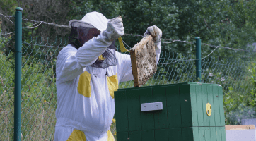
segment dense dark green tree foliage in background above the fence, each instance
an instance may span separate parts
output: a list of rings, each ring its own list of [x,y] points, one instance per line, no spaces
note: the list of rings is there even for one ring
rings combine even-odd
[[[163,38],[165,39],[181,39],[194,42],[194,37],[199,36],[204,43],[238,49],[251,49],[251,47],[247,47],[247,44],[255,42],[255,0],[58,0],[54,4],[51,4],[48,0],[41,1],[41,4],[38,1],[25,0],[21,3],[16,1],[3,1],[2,3],[3,6],[19,4],[24,8],[23,17],[25,18],[44,20],[59,25],[67,25],[68,21],[72,19],[81,20],[86,13],[98,11],[107,18],[122,16],[125,33],[128,34],[143,35],[147,27],[157,25],[163,30]],[[9,11],[6,8],[3,9]],[[31,24],[33,23],[23,20],[23,26]],[[28,34],[28,30],[24,29],[26,36],[40,35],[45,42],[47,37],[49,37],[50,42],[54,42],[55,37],[68,37],[70,32],[68,28],[54,27],[44,23],[37,29],[29,30],[30,33]],[[140,41],[141,37],[125,35],[123,39],[130,47],[133,47],[136,42]],[[194,54],[195,52],[193,45],[179,42],[162,44],[162,49],[186,54]],[[202,56],[206,56],[213,49],[213,47],[202,46]],[[248,56],[244,52],[234,52],[229,49],[217,49],[216,58],[219,57],[255,58],[252,54]]]

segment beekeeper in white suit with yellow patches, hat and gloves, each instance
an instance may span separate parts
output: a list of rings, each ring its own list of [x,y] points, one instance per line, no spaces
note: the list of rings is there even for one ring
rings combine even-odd
[[[115,39],[124,35],[122,18],[108,20],[98,12],[69,21],[69,42],[57,57],[55,141],[113,141],[114,91],[119,82],[133,80],[130,56],[116,51]],[[161,52],[162,31],[149,27]]]

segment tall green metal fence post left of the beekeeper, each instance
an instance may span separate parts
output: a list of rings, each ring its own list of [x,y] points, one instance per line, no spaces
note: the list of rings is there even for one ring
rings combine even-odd
[[[21,140],[21,7],[15,9],[14,141]]]

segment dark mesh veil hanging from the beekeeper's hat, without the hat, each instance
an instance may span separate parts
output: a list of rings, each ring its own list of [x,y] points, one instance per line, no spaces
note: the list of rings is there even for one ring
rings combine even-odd
[[[97,32],[89,32],[89,30],[95,28],[93,25],[74,21],[70,23],[71,26],[71,33],[69,35],[69,44],[71,44],[76,49],[79,49],[79,47],[82,47],[82,45],[87,42],[91,37],[97,37],[99,33]],[[102,54],[105,58],[104,60],[97,59],[91,66],[95,68],[107,68],[109,66],[115,66],[117,65],[117,59],[115,57],[115,51],[117,50],[115,47],[115,41],[112,42],[112,44],[107,47],[107,49]]]

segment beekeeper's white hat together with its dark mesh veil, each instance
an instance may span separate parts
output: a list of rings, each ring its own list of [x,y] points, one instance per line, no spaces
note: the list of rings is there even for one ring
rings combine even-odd
[[[92,34],[91,29],[99,30],[93,30],[93,32],[95,32],[95,37],[97,37],[100,32],[107,29],[107,21],[107,18],[98,12],[87,13],[82,20],[70,20],[69,27],[71,27],[71,33],[69,35],[69,43],[76,47],[76,49],[82,47],[84,42],[87,42],[88,37]],[[90,34],[88,34],[89,30],[91,30]],[[98,59],[91,66],[97,68],[115,66],[117,64],[117,59],[113,54],[114,51],[111,51],[112,49],[115,49],[115,51],[117,50],[115,48],[115,41],[113,41],[110,47],[107,47],[105,52],[102,54],[105,59]]]

